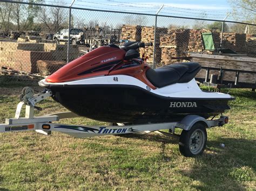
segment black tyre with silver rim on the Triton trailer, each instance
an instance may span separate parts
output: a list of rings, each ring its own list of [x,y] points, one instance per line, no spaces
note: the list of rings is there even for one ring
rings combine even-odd
[[[207,132],[203,123],[196,123],[188,131],[183,130],[179,138],[179,151],[185,157],[203,154],[207,142]]]

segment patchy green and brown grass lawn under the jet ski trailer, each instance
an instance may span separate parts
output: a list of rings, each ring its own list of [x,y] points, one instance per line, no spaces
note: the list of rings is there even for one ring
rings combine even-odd
[[[23,86],[0,87],[0,122],[14,117]],[[79,139],[53,132],[0,134],[1,189],[256,189],[256,93],[230,90],[230,123],[207,130],[204,154],[185,158],[156,133]],[[49,98],[37,115],[65,109]],[[24,114],[24,113],[23,113]],[[87,118],[63,123],[99,125]],[[225,147],[220,147],[224,143]]]

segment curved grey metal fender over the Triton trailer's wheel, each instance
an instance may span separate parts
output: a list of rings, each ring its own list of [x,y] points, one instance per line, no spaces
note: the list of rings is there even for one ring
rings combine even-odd
[[[179,122],[179,124],[182,125],[181,129],[184,130],[190,130],[191,127],[197,123],[197,122],[203,122],[207,125],[207,128],[210,128],[210,124],[208,124],[207,120],[204,117],[200,117],[198,115],[187,115],[186,117],[184,117],[181,122]]]

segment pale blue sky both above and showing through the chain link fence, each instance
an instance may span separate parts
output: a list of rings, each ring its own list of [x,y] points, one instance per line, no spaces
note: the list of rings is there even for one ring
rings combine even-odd
[[[45,3],[56,4],[56,2],[58,2],[59,5],[70,6],[71,1],[72,0],[45,0]],[[159,12],[159,15],[223,20],[228,13],[232,12],[232,6],[228,1],[230,0],[75,0],[72,6],[75,8],[149,13],[155,15],[161,6],[164,5],[163,9]],[[76,27],[82,27],[83,23],[89,23],[92,20],[97,20],[100,25],[109,25],[113,27],[117,27],[120,24],[153,26],[155,22],[154,16],[146,16],[146,18],[143,19],[143,23],[139,23],[138,15],[76,9],[72,10],[72,15]],[[243,21],[242,16],[238,16],[238,18],[239,20],[237,21]],[[135,22],[131,23],[131,20]],[[226,20],[234,21],[236,18],[230,14]],[[213,22],[202,22],[193,19],[158,17],[159,27],[167,27],[170,25],[180,27],[192,27],[194,25],[206,26],[212,23]]]

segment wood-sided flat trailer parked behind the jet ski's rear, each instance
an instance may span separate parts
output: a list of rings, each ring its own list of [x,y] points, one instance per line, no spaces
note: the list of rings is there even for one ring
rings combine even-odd
[[[256,58],[241,54],[191,53],[192,61],[202,69],[196,80],[206,86],[220,88],[256,88]],[[205,70],[205,72],[204,72]]]

